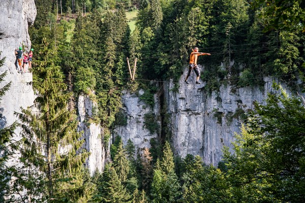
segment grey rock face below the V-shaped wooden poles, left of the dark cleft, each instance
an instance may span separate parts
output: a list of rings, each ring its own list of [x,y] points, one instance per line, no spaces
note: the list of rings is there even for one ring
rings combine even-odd
[[[154,114],[158,117],[160,114],[158,97],[155,96],[155,106],[151,109],[139,98],[144,93],[143,90],[139,91],[139,96],[127,91],[123,93],[122,103],[124,114],[127,116],[127,125],[116,126],[113,130],[113,137],[120,136],[124,145],[130,139],[136,148],[150,147],[149,140],[157,138],[158,132],[151,133],[144,127],[144,115]]]

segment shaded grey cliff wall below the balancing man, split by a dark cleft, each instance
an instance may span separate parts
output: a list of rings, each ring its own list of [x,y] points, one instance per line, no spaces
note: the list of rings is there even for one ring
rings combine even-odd
[[[219,91],[209,93],[204,91],[204,83],[195,84],[195,74],[189,78],[190,84],[186,84],[184,77],[187,71],[186,68],[179,80],[178,91],[171,91],[174,88],[172,81],[163,85],[174,153],[181,157],[200,155],[205,163],[217,166],[222,158],[223,146],[232,147],[234,133],[240,132],[245,113],[253,109],[253,101],[264,103],[275,78],[265,78],[264,87],[233,89],[230,85],[222,85]],[[129,93],[124,94],[122,100],[128,125],[117,127],[115,132],[123,138],[124,143],[131,139],[136,146],[145,146],[150,137],[142,127],[145,113],[145,109],[141,109],[143,104],[139,104],[136,95]]]

